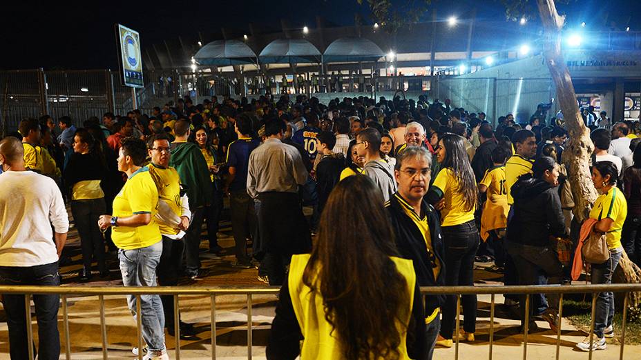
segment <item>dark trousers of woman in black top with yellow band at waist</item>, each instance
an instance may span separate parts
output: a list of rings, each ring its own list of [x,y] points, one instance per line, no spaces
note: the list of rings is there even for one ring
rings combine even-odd
[[[82,264],[91,270],[91,257],[98,263],[98,270],[106,270],[104,264],[104,239],[98,228],[98,217],[106,212],[104,198],[91,200],[72,200],[71,214],[80,236]]]

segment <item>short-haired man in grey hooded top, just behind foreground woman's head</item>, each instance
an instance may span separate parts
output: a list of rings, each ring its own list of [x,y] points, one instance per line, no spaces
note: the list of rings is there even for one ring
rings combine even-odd
[[[390,200],[396,192],[394,167],[381,158],[381,134],[379,130],[367,128],[356,137],[358,156],[365,157],[363,174],[374,180],[383,192],[383,199]]]

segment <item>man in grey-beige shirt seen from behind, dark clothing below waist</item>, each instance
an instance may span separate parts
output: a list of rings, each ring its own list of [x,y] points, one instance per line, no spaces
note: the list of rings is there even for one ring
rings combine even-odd
[[[298,196],[298,186],[307,181],[307,169],[298,150],[281,141],[283,132],[283,121],[265,123],[265,142],[249,155],[247,171],[247,193],[256,201],[258,250],[265,253],[261,268],[269,285],[283,284],[292,254],[312,248]]]

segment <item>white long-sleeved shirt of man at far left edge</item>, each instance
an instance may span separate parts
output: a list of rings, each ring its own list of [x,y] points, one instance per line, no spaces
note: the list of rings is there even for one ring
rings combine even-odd
[[[55,263],[53,232],[69,230],[67,210],[55,181],[32,171],[0,174],[0,266]]]

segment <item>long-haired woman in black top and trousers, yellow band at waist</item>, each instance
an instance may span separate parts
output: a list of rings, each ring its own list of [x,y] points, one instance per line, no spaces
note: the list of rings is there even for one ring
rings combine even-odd
[[[98,263],[101,277],[109,272],[104,261],[104,239],[98,228],[98,218],[105,213],[104,192],[100,182],[104,179],[106,164],[99,143],[84,128],[78,129],[73,138],[73,154],[64,169],[68,187],[71,214],[80,236],[83,268],[81,280],[91,279],[92,257]]]

